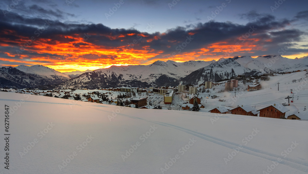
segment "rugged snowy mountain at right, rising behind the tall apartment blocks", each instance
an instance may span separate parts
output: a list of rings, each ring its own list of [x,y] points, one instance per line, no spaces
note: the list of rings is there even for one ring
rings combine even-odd
[[[205,81],[230,79],[239,74],[259,75],[271,72],[287,72],[304,70],[308,67],[308,59],[289,59],[282,56],[249,56],[220,59],[216,63],[198,69],[181,79],[186,84],[199,85]]]

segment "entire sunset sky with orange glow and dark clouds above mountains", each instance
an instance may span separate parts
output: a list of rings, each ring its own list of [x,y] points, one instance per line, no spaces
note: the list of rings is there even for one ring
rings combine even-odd
[[[307,0],[1,0],[0,65],[60,72],[308,55]]]

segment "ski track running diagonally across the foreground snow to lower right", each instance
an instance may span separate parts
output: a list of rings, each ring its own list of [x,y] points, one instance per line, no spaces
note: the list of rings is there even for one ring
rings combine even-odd
[[[107,112],[107,113],[112,113],[112,112],[101,110],[101,109],[95,109],[95,110],[99,110],[99,111],[103,111],[103,112]],[[224,146],[226,148],[230,148],[232,150],[234,150],[235,148],[237,148],[241,145],[241,144],[236,144],[236,143],[229,142],[229,141],[226,141],[226,140],[222,140],[222,139],[219,139],[219,138],[216,138],[216,137],[213,137],[213,136],[209,136],[209,135],[206,135],[204,133],[185,129],[185,128],[182,128],[180,126],[171,125],[171,124],[168,124],[168,123],[146,120],[146,119],[143,119],[143,118],[132,117],[132,116],[128,116],[128,115],[120,114],[120,113],[118,113],[118,115],[122,115],[124,117],[129,117],[129,118],[133,118],[133,119],[139,119],[139,120],[142,120],[142,121],[147,121],[147,122],[155,123],[155,124],[158,124],[158,125],[166,126],[166,127],[169,127],[169,128],[177,129],[177,130],[180,130],[182,132],[191,134],[193,136],[197,136],[197,137],[199,137],[203,140],[207,140],[207,141],[210,141],[212,143]],[[279,162],[279,164],[284,164],[284,165],[289,166],[291,168],[294,168],[294,169],[300,170],[302,172],[308,173],[308,162],[306,162],[305,160],[292,159],[292,158],[288,158],[288,157],[283,158],[282,156],[276,155],[274,153],[265,152],[265,151],[258,150],[258,149],[255,149],[255,148],[250,148],[250,147],[247,147],[247,146],[244,146],[244,145],[242,145],[242,147],[243,147],[243,149],[240,150],[241,152],[247,153],[249,155],[261,157],[263,159],[270,160],[270,161],[277,161],[277,159],[280,158],[280,159],[282,159],[282,161]]]

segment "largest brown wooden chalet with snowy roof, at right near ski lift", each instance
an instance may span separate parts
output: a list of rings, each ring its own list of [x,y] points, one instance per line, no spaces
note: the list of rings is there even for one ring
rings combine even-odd
[[[259,117],[284,119],[285,116],[286,116],[286,112],[289,111],[289,109],[284,107],[281,104],[273,104],[273,105],[267,106],[263,109],[259,109],[257,111],[260,111]]]

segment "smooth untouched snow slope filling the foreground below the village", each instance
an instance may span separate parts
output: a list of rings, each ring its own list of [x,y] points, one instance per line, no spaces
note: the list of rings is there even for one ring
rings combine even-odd
[[[0,164],[7,174],[308,172],[307,121],[5,92],[0,105],[2,113],[4,105],[15,108],[7,132],[10,170]]]

